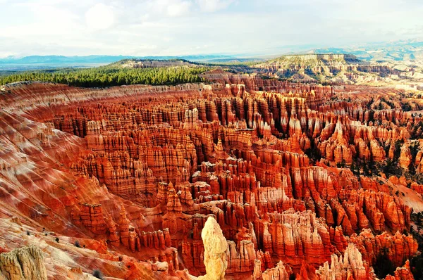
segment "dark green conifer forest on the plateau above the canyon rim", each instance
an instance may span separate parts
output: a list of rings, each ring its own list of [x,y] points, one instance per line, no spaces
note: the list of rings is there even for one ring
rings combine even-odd
[[[207,70],[207,67],[201,66],[119,68],[116,65],[98,68],[32,70],[0,75],[0,85],[24,81],[54,82],[75,87],[113,87],[129,84],[170,85],[202,82],[204,79],[199,74]]]

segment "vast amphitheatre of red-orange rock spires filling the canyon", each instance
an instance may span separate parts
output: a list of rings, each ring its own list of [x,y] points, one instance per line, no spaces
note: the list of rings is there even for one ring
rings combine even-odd
[[[204,77],[6,86],[1,252],[37,246],[48,279],[374,279],[381,254],[412,279],[423,132],[402,91]]]

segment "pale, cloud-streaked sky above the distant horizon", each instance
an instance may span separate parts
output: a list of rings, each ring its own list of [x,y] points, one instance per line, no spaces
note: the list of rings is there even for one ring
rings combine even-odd
[[[422,0],[0,0],[0,57],[265,55],[423,37]]]

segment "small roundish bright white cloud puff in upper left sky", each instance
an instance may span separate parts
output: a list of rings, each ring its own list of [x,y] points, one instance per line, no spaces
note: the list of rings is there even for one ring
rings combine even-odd
[[[116,23],[114,7],[95,4],[85,13],[85,22],[90,30],[106,30]]]

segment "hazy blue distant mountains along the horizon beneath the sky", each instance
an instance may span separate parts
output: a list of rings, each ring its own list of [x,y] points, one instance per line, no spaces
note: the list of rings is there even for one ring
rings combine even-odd
[[[283,48],[282,48],[283,49]],[[364,44],[360,46],[346,46],[342,48],[318,48],[304,50],[298,46],[295,51],[285,53],[289,54],[310,54],[310,53],[349,53],[363,61],[386,62],[386,61],[423,61],[423,39],[407,40],[396,42],[381,42]],[[287,51],[287,50],[285,50]],[[283,53],[281,53],[283,54]],[[193,56],[25,56],[18,58],[9,56],[0,58],[0,71],[33,70],[45,68],[63,68],[63,67],[94,67],[121,61],[123,59],[184,59],[200,63],[252,63],[253,61],[265,61],[269,56],[258,56],[248,54],[205,54]],[[273,56],[276,58],[276,56]]]

